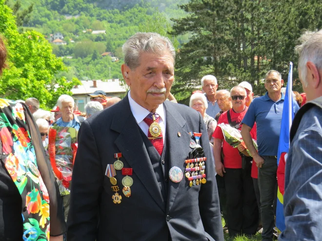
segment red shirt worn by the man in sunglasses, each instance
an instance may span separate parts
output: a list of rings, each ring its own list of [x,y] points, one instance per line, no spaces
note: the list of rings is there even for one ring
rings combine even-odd
[[[233,109],[230,109],[229,113],[230,113],[231,122],[241,123],[247,110],[248,108],[246,107],[245,110],[242,111],[241,113],[236,113],[235,111],[233,111]],[[218,124],[221,124],[221,123],[229,124],[227,111],[223,112],[219,117]],[[238,130],[241,130],[241,126]],[[254,128],[252,128],[252,130],[250,131],[250,134],[254,138],[254,136],[256,136],[256,130],[254,131]],[[224,138],[223,138],[221,127],[217,125],[216,130],[214,131],[212,136],[214,138],[223,140]],[[223,141],[222,152],[223,152],[223,166],[225,168],[241,168],[241,156],[239,154],[238,148],[233,148],[226,141]]]

